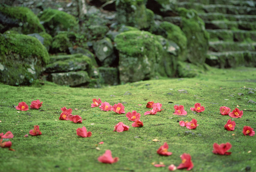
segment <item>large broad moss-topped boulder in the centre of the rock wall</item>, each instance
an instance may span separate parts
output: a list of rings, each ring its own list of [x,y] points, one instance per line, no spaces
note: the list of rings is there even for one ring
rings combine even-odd
[[[121,82],[174,76],[177,56],[173,55],[174,48],[162,36],[127,31],[117,35],[115,42]]]

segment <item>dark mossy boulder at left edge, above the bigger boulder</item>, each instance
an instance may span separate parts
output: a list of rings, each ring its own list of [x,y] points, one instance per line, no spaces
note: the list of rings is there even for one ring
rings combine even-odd
[[[0,7],[0,32],[14,29],[20,34],[44,32],[38,17],[26,7]]]

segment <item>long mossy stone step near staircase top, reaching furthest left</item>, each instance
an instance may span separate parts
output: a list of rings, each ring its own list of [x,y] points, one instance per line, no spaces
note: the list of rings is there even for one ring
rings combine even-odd
[[[181,2],[177,3],[178,7],[184,7],[187,9],[195,9],[199,13],[224,13],[224,14],[247,14],[256,15],[256,8],[243,7],[243,6],[232,6],[222,4],[210,4],[204,5],[201,3]]]

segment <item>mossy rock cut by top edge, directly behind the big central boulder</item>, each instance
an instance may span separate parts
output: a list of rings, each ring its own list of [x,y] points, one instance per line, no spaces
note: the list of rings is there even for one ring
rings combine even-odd
[[[146,9],[144,0],[117,1],[117,21],[138,29],[147,29],[152,26],[154,12]]]

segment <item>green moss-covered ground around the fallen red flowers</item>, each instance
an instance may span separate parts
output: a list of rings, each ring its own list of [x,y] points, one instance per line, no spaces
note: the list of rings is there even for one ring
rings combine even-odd
[[[16,150],[0,149],[0,171],[168,171],[168,165],[181,163],[183,153],[191,155],[191,171],[256,171],[256,136],[242,133],[244,126],[256,129],[256,105],[248,103],[255,102],[256,96],[248,94],[247,89],[255,89],[255,78],[256,68],[237,68],[210,69],[197,78],[141,81],[100,89],[70,88],[49,82],[41,87],[0,84],[0,133],[14,134],[11,141]],[[94,98],[111,105],[123,103],[125,112],[136,110],[144,126],[133,128],[125,114],[91,108]],[[43,102],[39,110],[18,113],[15,109],[19,102],[30,105],[36,99]],[[144,116],[149,110],[145,107],[148,101],[161,103],[164,110]],[[205,111],[190,111],[195,103],[201,103]],[[176,104],[185,107],[186,116],[173,115]],[[80,115],[82,124],[59,120],[60,108],[64,106],[72,108],[73,115]],[[237,124],[234,131],[224,129],[231,117],[220,114],[221,106],[244,111],[242,118],[232,118]],[[177,122],[192,118],[198,120],[195,130],[180,127]],[[120,121],[130,126],[129,131],[113,132]],[[42,135],[24,137],[34,125],[39,125]],[[76,129],[82,126],[92,132],[91,137],[76,135]],[[104,144],[98,144],[100,141]],[[156,153],[164,142],[173,155]],[[230,142],[232,154],[213,154],[214,142]],[[114,164],[98,162],[105,150],[111,150],[113,157],[120,160]],[[154,167],[153,162],[163,162],[166,167]]]

